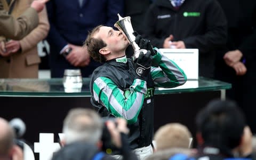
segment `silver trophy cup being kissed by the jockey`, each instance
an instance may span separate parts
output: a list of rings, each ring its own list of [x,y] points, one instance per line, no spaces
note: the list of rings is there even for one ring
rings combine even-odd
[[[139,45],[135,43],[135,36],[133,35],[133,28],[131,23],[131,17],[121,17],[121,15],[118,13],[118,21],[115,23],[115,27],[122,32],[122,34],[125,36],[125,38],[129,41],[129,43],[132,45],[133,48],[133,61],[137,59],[140,55],[140,52],[143,52],[143,54],[147,53],[147,50],[140,49]]]

